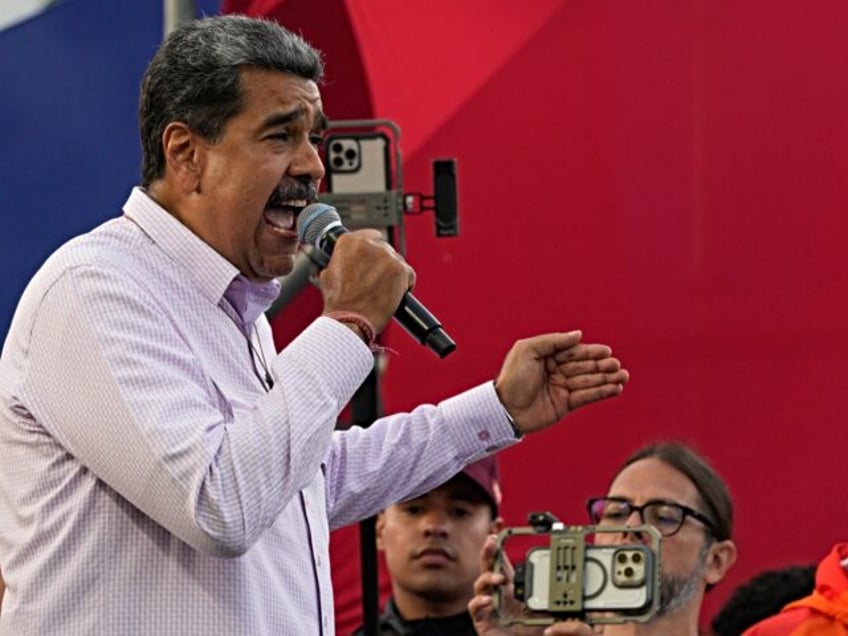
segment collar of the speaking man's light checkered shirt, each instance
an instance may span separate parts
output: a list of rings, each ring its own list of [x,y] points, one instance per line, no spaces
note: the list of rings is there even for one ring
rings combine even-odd
[[[254,283],[165,210],[142,188],[135,187],[124,204],[124,216],[135,222],[177,267],[194,279],[200,292],[215,305],[222,299],[238,314],[243,324],[253,323],[280,292],[280,283]]]

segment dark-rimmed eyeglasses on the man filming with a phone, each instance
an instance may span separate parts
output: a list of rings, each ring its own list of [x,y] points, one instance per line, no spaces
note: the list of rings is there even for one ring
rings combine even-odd
[[[664,537],[676,534],[686,517],[703,523],[715,534],[715,524],[706,516],[689,506],[673,501],[652,500],[641,506],[623,497],[596,497],[586,504],[589,518],[596,526],[623,526],[634,512],[639,513],[643,524],[653,526]]]

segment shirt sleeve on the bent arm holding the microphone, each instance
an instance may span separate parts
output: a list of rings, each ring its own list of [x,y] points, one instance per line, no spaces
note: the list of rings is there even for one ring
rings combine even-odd
[[[272,363],[275,387],[236,410],[167,318],[124,276],[66,271],[35,313],[21,403],[133,506],[195,549],[237,556],[315,479],[373,358],[316,321]]]

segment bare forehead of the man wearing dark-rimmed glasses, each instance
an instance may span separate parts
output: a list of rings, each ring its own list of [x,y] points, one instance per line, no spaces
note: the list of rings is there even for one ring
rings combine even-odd
[[[662,499],[691,508],[701,507],[701,497],[692,480],[656,457],[640,459],[625,467],[613,479],[607,494],[630,499],[636,505]]]

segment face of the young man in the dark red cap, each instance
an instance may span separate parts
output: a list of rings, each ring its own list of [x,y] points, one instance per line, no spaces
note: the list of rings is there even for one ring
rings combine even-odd
[[[429,616],[464,611],[480,575],[486,537],[501,525],[482,490],[461,474],[381,512],[377,545],[385,552],[394,598],[402,613],[406,609],[405,617],[420,617],[407,615],[412,605],[425,605]]]

